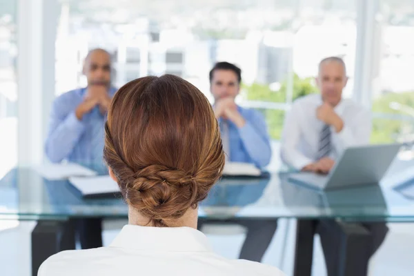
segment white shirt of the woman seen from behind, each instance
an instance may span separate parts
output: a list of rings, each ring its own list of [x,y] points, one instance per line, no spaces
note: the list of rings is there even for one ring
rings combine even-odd
[[[39,276],[284,275],[273,266],[230,260],[211,250],[207,237],[188,227],[127,225],[109,247],[69,250],[49,257]]]

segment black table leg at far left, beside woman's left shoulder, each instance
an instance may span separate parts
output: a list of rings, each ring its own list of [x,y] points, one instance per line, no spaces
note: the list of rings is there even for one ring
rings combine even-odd
[[[32,230],[32,276],[48,257],[70,249],[75,249],[74,221],[37,221]]]

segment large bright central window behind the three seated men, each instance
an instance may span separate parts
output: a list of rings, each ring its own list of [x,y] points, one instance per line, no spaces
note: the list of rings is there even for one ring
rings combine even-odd
[[[209,99],[210,68],[229,61],[243,71],[237,101],[264,112],[275,140],[290,103],[316,92],[313,77],[324,57],[344,57],[350,75],[345,95],[352,95],[355,1],[60,1],[57,62],[76,57],[57,68],[57,82],[70,82],[66,90],[84,85],[81,62],[95,47],[117,52],[117,86],[168,72]]]

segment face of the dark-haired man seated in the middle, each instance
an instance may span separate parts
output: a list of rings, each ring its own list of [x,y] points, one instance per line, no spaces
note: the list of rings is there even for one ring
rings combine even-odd
[[[215,101],[226,97],[235,97],[239,94],[240,85],[237,75],[232,70],[215,70],[210,83],[210,91]]]

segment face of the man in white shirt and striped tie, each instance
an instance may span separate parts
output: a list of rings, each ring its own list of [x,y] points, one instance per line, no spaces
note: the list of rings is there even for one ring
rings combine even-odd
[[[345,68],[336,61],[326,61],[319,68],[319,76],[316,79],[324,102],[335,107],[342,99],[342,90],[346,86],[348,78]]]

